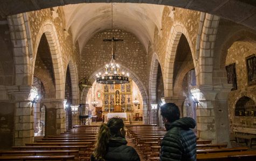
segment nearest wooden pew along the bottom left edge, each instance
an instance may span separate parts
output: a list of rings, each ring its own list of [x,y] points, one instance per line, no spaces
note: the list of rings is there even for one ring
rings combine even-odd
[[[75,156],[1,156],[0,160],[74,160]]]

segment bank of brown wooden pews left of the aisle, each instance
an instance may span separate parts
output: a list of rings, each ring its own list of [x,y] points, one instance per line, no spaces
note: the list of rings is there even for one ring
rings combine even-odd
[[[89,160],[98,127],[86,127],[0,151],[0,160]]]

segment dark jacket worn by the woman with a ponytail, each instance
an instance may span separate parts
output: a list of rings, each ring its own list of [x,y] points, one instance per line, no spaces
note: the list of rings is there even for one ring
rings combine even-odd
[[[104,159],[106,161],[140,161],[140,157],[133,147],[130,147],[122,137],[111,137],[108,143],[108,151]],[[92,161],[97,161],[91,156]]]

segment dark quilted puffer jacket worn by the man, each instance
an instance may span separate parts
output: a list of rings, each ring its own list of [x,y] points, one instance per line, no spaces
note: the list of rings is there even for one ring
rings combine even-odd
[[[196,136],[190,128],[195,128],[192,118],[181,118],[169,125],[161,142],[161,161],[196,160]]]

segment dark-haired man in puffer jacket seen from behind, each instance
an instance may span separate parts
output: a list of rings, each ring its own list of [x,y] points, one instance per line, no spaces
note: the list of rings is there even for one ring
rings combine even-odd
[[[167,133],[161,142],[161,161],[196,160],[196,136],[191,130],[192,118],[179,118],[179,108],[173,103],[161,106],[161,115]]]

